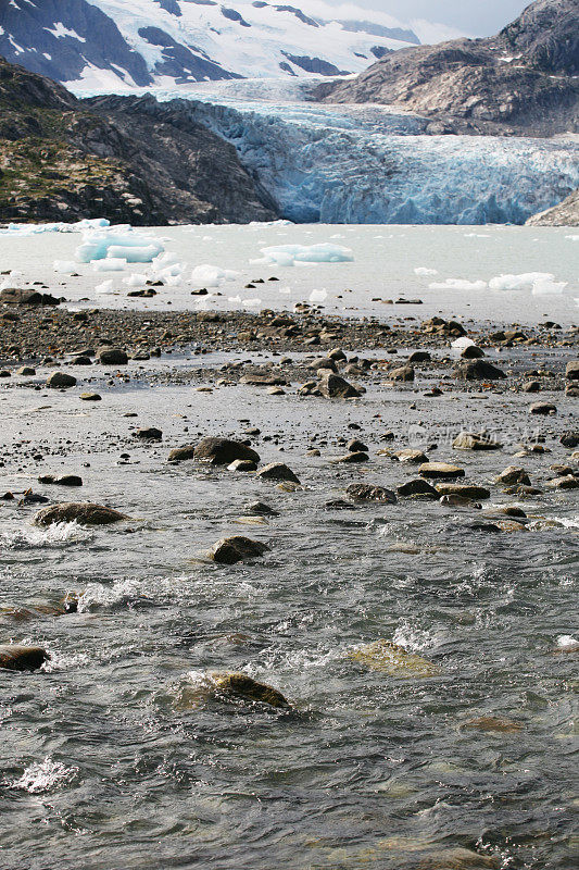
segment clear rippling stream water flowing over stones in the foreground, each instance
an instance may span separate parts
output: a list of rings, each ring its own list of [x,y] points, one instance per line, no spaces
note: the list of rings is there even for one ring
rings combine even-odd
[[[88,410],[71,393],[12,384],[0,394],[2,488],[35,485],[30,456],[50,446],[42,468],[81,472],[83,498],[131,518],[39,530],[35,508],[0,508],[2,604],[81,593],[78,613],[2,617],[5,639],[45,644],[52,660],[46,672],[0,676],[1,867],[576,867],[577,676],[565,639],[577,631],[574,493],[525,501],[558,525],[504,535],[468,530],[466,514],[438,502],[324,508],[353,481],[415,476],[376,450],[385,430],[427,419],[439,459],[456,459],[445,434],[463,415],[492,423],[504,453],[460,457],[491,481],[521,437],[526,401],[451,393],[432,406],[412,394],[411,410],[407,393],[379,385],[347,405],[152,388],[163,365],[144,363],[140,380]],[[570,422],[570,400],[557,394],[557,406]],[[338,435],[357,434],[352,422],[372,447],[363,471],[304,456],[312,436],[338,452]],[[133,423],[159,425],[163,445],[127,447]],[[166,463],[169,445],[248,425],[261,430],[262,459],[287,461],[304,488]],[[547,444],[561,461],[563,448]],[[540,481],[540,460],[524,463]],[[247,525],[255,499],[279,517]],[[203,558],[231,533],[272,549],[234,567]],[[352,657],[379,638],[436,673],[392,674]],[[244,671],[292,708],[205,696],[212,670]],[[500,722],[484,730],[473,723],[481,717]]]

